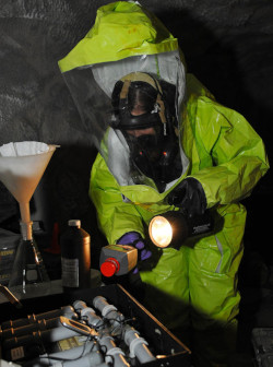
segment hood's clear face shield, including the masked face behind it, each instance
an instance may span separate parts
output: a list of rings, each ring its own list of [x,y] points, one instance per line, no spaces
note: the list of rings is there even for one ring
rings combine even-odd
[[[155,76],[158,74],[161,79]],[[173,146],[179,146],[174,144],[178,139],[174,128],[169,129],[169,121],[177,129],[178,106],[185,96],[185,70],[178,51],[79,67],[63,73],[63,78],[81,117],[81,121],[78,116],[72,119],[71,126],[92,140],[120,186],[145,185],[156,189],[155,180],[169,182],[174,175],[168,177],[164,167],[171,167],[168,162],[175,155]],[[134,97],[139,97],[138,104]],[[155,137],[138,140],[136,134],[129,135],[151,128]],[[167,152],[170,159],[159,164],[159,152]],[[144,156],[149,158],[141,159]]]

